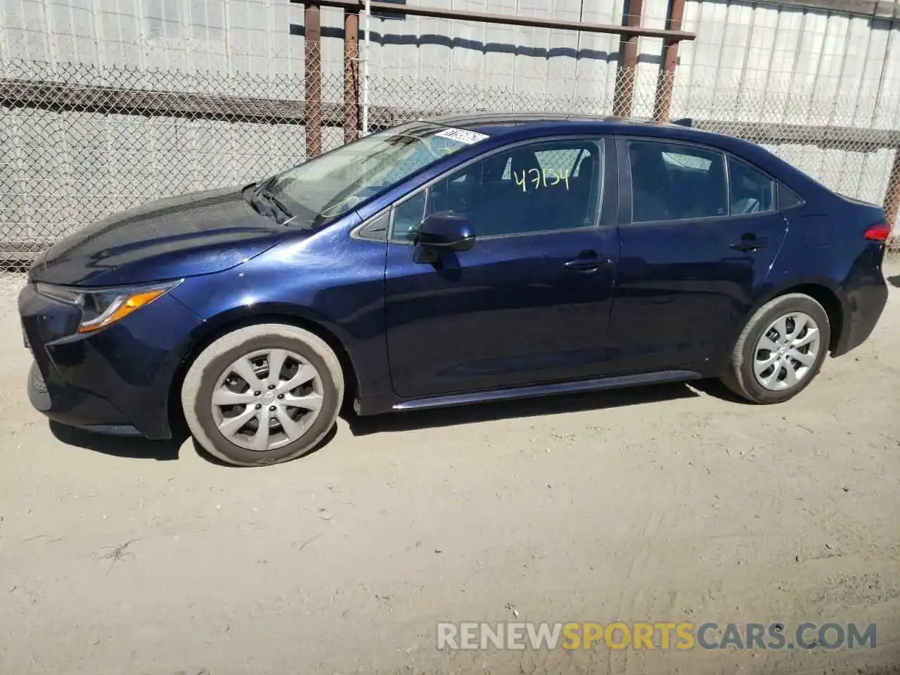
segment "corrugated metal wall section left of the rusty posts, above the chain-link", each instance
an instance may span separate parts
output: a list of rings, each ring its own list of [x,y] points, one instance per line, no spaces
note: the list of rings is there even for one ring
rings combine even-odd
[[[286,0],[2,0],[0,56],[95,66],[302,73]]]

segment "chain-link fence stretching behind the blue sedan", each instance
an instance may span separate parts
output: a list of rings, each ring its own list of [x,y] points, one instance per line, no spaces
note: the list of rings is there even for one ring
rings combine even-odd
[[[347,60],[349,76],[313,79],[0,61],[0,264],[22,271],[35,251],[115,211],[255,181],[355,138],[360,77],[356,55]],[[848,196],[880,204],[900,194],[890,184],[900,174],[900,100],[682,83],[677,74],[658,85],[629,70],[619,89],[633,90],[630,103],[615,83],[577,78],[564,96],[422,77],[367,84],[370,129],[446,112],[650,118],[664,106],[671,118],[770,148]],[[890,204],[896,220],[900,203]],[[900,238],[889,248],[900,251]]]

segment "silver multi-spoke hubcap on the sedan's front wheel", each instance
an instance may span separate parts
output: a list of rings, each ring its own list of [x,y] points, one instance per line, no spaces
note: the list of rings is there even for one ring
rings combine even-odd
[[[302,356],[263,349],[241,356],[212,390],[212,419],[223,437],[247,450],[275,450],[319,418],[322,381]]]

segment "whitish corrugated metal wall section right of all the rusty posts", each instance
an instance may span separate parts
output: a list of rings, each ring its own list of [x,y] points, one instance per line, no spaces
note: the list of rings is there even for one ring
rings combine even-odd
[[[896,124],[896,109],[883,99],[900,97],[900,23],[795,7],[689,2],[685,28],[698,39],[680,51],[678,81],[691,89],[715,83],[720,97],[732,97],[738,115],[758,107],[746,104],[753,97],[777,103],[791,94],[808,96],[810,107],[852,101],[836,108],[832,124]],[[760,121],[803,122],[785,119],[777,104],[763,107],[769,113]]]

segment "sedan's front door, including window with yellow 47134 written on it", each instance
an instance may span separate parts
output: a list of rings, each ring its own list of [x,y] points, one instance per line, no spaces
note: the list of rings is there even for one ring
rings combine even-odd
[[[604,148],[602,139],[508,148],[395,206],[385,293],[398,395],[605,372],[618,235],[599,212]],[[464,214],[475,244],[417,263],[415,229],[435,211]]]

